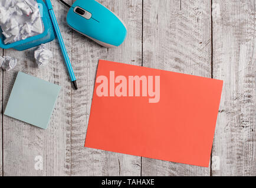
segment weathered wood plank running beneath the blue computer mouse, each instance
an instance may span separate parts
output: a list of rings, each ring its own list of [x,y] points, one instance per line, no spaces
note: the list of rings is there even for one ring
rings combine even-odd
[[[140,157],[84,148],[99,59],[133,65],[142,63],[142,0],[99,2],[124,20],[128,36],[120,47],[107,49],[73,32],[72,63],[79,90],[71,91],[71,174],[140,176]]]

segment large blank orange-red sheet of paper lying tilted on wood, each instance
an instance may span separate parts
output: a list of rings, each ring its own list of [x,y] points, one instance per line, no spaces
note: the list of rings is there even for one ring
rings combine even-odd
[[[222,84],[100,60],[85,147],[208,167]]]

